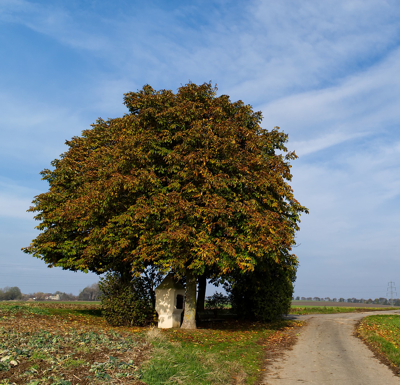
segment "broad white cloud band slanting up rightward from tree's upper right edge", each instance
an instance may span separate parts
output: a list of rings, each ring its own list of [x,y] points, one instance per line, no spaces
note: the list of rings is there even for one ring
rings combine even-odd
[[[261,106],[264,126],[289,133],[289,147],[310,154],[352,138],[393,132],[400,123],[400,50],[341,84]]]

